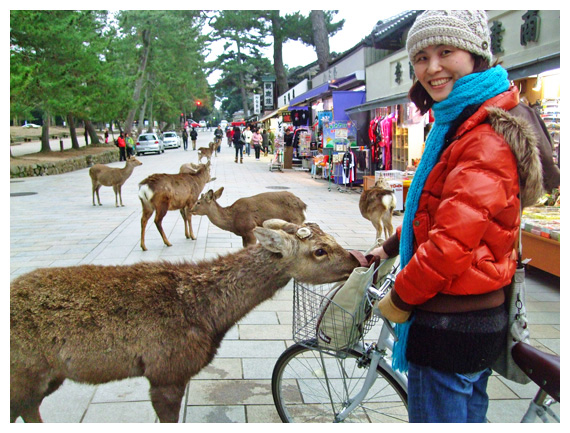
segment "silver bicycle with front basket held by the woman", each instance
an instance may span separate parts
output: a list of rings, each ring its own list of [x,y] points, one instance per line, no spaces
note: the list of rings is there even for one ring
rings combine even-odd
[[[386,275],[378,275],[379,269],[385,272],[387,268]],[[364,322],[328,298],[331,285],[305,286],[294,282],[295,344],[278,358],[271,380],[273,400],[283,422],[408,421],[407,376],[392,368],[394,327],[373,308],[391,289],[398,271],[395,259],[388,259],[375,269],[378,289],[372,284],[366,290],[361,303],[364,314],[360,315],[365,317]],[[331,348],[319,339],[318,321],[325,303],[328,308],[337,309],[339,330],[349,330],[351,334],[345,336],[346,347]],[[356,323],[357,319],[362,323]],[[379,322],[382,326],[375,327]],[[379,329],[376,341],[369,337],[365,341],[373,328]],[[560,401],[560,358],[530,346],[521,348],[521,344],[524,343],[517,345],[520,350],[514,358],[523,371],[533,371],[527,374],[539,385],[521,422],[534,422],[537,417],[544,422],[548,422],[548,417],[560,422],[550,408],[554,400]],[[552,377],[556,376],[558,382],[553,384],[556,381]],[[548,387],[543,383],[546,377]]]

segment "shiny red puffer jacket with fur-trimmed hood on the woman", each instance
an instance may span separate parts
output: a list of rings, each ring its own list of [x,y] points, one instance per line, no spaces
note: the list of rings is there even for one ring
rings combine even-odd
[[[399,307],[437,311],[447,295],[467,301],[473,297],[457,295],[484,297],[510,283],[520,224],[517,171],[523,206],[542,191],[535,133],[508,113],[518,102],[515,87],[486,101],[428,176],[413,221],[415,253],[392,290]]]

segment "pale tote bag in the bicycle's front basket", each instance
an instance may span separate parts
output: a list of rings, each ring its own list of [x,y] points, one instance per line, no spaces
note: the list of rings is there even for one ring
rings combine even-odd
[[[317,338],[321,347],[342,350],[362,336],[362,322],[368,312],[364,294],[372,284],[374,266],[358,267],[348,280],[324,297],[317,319]]]

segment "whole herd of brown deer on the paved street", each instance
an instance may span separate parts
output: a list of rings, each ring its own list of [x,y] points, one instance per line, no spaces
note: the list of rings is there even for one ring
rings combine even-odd
[[[206,148],[204,148],[206,149]],[[268,192],[221,207],[223,188],[201,194],[210,176],[205,164],[184,164],[177,174],[153,174],[139,184],[141,248],[149,218],[164,243],[169,210],[180,210],[185,235],[196,239],[192,215],[243,239],[244,248],[199,263],[82,265],[37,269],[10,288],[10,421],[41,422],[42,400],[65,379],[100,384],[144,376],[161,422],[177,422],[186,384],[208,365],[226,332],[292,278],[325,284],[348,278],[361,265],[316,224],[304,222],[306,204],[289,192]],[[93,205],[99,188],[121,186],[124,168],[91,167]],[[200,195],[201,194],[201,195]],[[360,199],[362,215],[377,236],[392,234],[395,196],[379,183]]]

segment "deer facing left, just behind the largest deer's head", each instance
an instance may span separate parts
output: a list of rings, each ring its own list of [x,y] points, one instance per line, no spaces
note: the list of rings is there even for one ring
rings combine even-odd
[[[264,192],[243,197],[225,208],[216,201],[223,192],[222,187],[216,192],[209,190],[202,194],[191,212],[193,215],[206,215],[215,226],[241,236],[244,247],[255,244],[253,229],[260,227],[263,221],[273,218],[294,224],[305,221],[307,205],[290,192]]]

